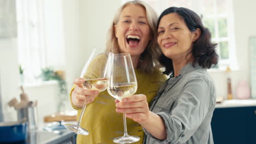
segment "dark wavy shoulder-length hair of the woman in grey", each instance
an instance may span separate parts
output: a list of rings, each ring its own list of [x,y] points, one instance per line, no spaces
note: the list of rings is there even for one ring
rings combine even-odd
[[[157,28],[159,27],[159,22],[162,17],[170,13],[178,14],[186,23],[189,31],[193,32],[197,28],[201,30],[201,35],[194,42],[191,51],[194,57],[193,66],[198,63],[202,68],[210,69],[212,65],[216,65],[218,63],[218,54],[216,52],[217,44],[211,43],[211,33],[208,28],[203,26],[200,16],[187,8],[170,7],[164,10],[159,16]],[[168,75],[172,73],[172,75],[174,75],[172,59],[162,53],[159,60],[160,64],[165,67],[164,74]]]

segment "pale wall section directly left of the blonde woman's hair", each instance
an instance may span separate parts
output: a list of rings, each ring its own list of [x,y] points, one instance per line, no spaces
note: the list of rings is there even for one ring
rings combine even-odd
[[[106,33],[121,1],[82,1],[81,5],[83,52],[87,54],[93,48],[105,49]]]

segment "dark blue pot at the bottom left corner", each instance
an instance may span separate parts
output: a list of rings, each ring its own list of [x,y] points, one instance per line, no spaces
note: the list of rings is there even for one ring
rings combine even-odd
[[[0,123],[0,143],[25,141],[27,137],[27,124],[17,122]]]

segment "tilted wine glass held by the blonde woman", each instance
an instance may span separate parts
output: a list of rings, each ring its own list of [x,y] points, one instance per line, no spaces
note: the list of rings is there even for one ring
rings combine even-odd
[[[109,54],[110,55],[110,54]],[[107,56],[101,53],[96,55],[96,49],[91,53],[88,61],[86,61],[85,66],[80,75],[81,78],[85,79],[82,87],[85,89],[104,91],[107,88]],[[89,131],[80,127],[80,122],[82,120],[85,108],[86,100],[84,101],[82,112],[79,116],[77,124],[65,124],[65,128],[74,131],[76,134],[89,135]]]

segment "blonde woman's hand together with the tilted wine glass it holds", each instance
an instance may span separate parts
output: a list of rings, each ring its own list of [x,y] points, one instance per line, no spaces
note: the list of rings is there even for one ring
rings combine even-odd
[[[72,92],[72,98],[75,99],[72,100],[72,102],[74,101],[75,104],[79,105],[83,104],[83,109],[80,113],[78,123],[65,124],[65,127],[80,135],[89,135],[89,132],[86,129],[80,127],[86,104],[95,99],[95,94],[102,92],[107,88],[107,73],[105,71],[105,68],[107,67],[107,57],[104,54],[97,54],[96,49],[94,49],[88,61],[85,63],[80,79],[74,80],[77,87],[75,87]]]

